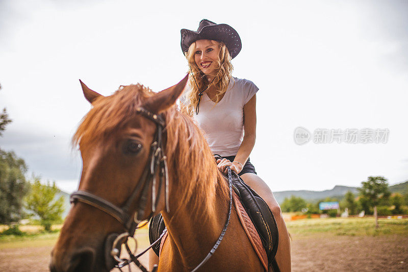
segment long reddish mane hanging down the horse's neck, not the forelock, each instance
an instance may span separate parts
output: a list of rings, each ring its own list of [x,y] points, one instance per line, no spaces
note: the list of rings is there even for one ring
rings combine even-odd
[[[167,111],[166,122],[166,155],[172,163],[169,169],[174,170],[173,185],[179,187],[181,205],[200,211],[203,216],[215,212],[216,192],[225,203],[229,192],[207,140],[192,118],[179,109]]]

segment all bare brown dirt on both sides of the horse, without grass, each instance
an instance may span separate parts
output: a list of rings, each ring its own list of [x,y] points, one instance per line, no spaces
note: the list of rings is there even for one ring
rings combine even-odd
[[[2,249],[0,271],[48,271],[51,249],[51,245]],[[147,259],[142,262],[146,264]],[[408,237],[392,234],[294,237],[292,268],[293,271],[408,271]]]

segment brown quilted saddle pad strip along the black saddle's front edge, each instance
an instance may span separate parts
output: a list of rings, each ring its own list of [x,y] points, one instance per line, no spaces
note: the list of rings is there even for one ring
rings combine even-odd
[[[262,244],[261,238],[259,237],[258,231],[253,225],[248,214],[246,213],[235,191],[233,191],[233,198],[239,220],[241,221],[241,225],[244,228],[245,233],[253,246],[253,249],[255,250],[259,259],[261,260],[262,265],[264,266],[265,270],[268,271],[268,257],[266,256],[266,251]]]

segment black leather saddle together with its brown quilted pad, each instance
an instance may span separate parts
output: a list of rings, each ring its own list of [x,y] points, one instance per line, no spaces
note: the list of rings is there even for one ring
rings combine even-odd
[[[279,271],[275,260],[278,246],[278,229],[275,217],[262,197],[256,191],[246,185],[241,177],[239,177],[235,172],[233,172],[232,182],[235,196],[235,206],[248,238],[251,240],[251,243],[264,266],[266,265],[265,262],[267,261],[268,265],[272,266],[273,271]],[[245,222],[247,217],[249,217],[252,224]],[[267,259],[265,261],[263,260],[265,259],[265,253],[259,252],[260,245],[258,245],[256,241],[259,238],[254,237],[256,235],[254,235],[253,231],[251,231],[252,226],[256,229],[260,241],[262,242],[262,246],[265,249]],[[165,228],[166,226],[164,225],[164,220],[161,214],[158,214],[151,219],[149,226],[150,244],[160,237]],[[157,256],[160,254],[161,244],[163,244],[163,242],[164,240],[152,247]]]

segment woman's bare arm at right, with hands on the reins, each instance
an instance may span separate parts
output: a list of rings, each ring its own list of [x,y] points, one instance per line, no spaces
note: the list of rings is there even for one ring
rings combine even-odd
[[[241,146],[239,147],[237,156],[231,165],[231,170],[239,173],[242,170],[243,165],[248,160],[253,146],[255,145],[256,133],[257,133],[257,97],[256,94],[244,105],[244,138]],[[218,167],[221,171],[225,171],[225,166],[230,164],[224,164],[227,160],[218,160]],[[235,169],[234,169],[235,168]]]

